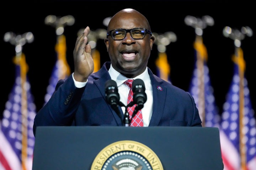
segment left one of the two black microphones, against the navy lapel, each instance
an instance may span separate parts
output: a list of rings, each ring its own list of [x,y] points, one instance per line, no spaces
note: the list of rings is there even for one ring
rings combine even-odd
[[[111,105],[113,109],[117,109],[119,105],[120,96],[116,81],[107,80],[105,83],[105,94],[107,103]]]

